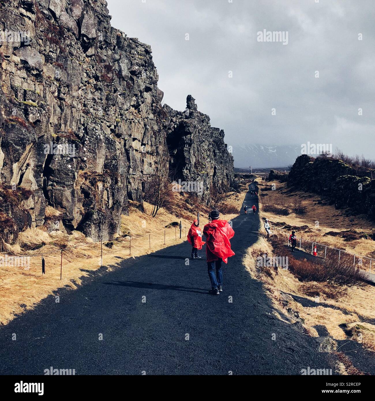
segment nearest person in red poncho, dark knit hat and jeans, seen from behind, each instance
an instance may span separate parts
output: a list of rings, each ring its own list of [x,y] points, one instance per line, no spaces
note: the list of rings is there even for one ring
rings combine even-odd
[[[211,282],[209,294],[219,295],[223,291],[221,263],[227,263],[228,257],[234,255],[229,242],[234,231],[226,220],[219,220],[217,210],[211,211],[210,217],[212,221],[203,228],[206,236],[207,271]]]

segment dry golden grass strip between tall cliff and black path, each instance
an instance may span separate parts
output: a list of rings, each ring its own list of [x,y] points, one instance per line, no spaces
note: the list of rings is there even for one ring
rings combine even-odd
[[[228,202],[242,203],[245,192],[228,194]],[[187,205],[184,196],[174,194],[176,207],[184,210],[183,218],[160,209],[158,215],[153,218],[150,215],[152,205],[144,203],[145,212],[142,213],[136,207],[130,206],[129,216],[122,216],[121,232],[117,235],[111,247],[105,246],[108,241],[103,241],[103,266],[107,270],[120,266],[121,259],[136,257],[158,251],[164,247],[175,245],[186,240],[193,219],[196,218],[197,209]],[[136,205],[134,205],[136,206]],[[202,208],[201,211],[205,211]],[[48,215],[55,217],[56,211],[48,209]],[[207,224],[207,214],[202,214],[200,225]],[[231,219],[235,215],[222,215],[221,218]],[[179,238],[179,229],[165,228],[166,225],[182,221],[182,238]],[[165,230],[165,245],[164,245]],[[123,236],[125,235],[125,236]],[[129,255],[129,237],[131,237],[131,255]],[[150,237],[149,237],[150,235]],[[22,247],[41,246],[34,251],[22,251]],[[62,279],[60,280],[61,247],[63,251]],[[20,233],[16,245],[6,244],[7,255],[30,256],[30,267],[24,269],[20,266],[2,266],[0,269],[0,324],[6,324],[15,315],[32,309],[39,301],[59,288],[69,286],[77,288],[82,278],[87,277],[91,271],[101,266],[100,242],[93,243],[82,233],[73,231],[72,235],[60,231],[48,234],[45,228],[27,229]],[[5,257],[6,254],[0,254]],[[41,258],[45,259],[46,274],[42,275]],[[119,259],[119,257],[121,259]],[[22,306],[21,306],[22,305]]]

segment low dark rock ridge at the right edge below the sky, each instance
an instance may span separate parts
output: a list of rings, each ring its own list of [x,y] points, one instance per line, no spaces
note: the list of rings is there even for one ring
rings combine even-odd
[[[322,194],[337,209],[350,207],[375,219],[375,180],[371,169],[342,160],[299,156],[288,174],[288,186]]]

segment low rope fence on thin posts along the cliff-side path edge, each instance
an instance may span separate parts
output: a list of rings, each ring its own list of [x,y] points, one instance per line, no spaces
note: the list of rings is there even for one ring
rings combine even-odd
[[[236,214],[223,215],[222,217],[223,217],[224,220],[228,220],[228,219],[232,219],[234,216],[236,216]],[[206,220],[206,219],[205,219],[205,220]],[[202,218],[200,218],[200,223],[203,224],[203,219],[202,219]],[[207,223],[209,223],[208,220],[207,220]],[[207,223],[205,223],[205,224],[207,224]],[[170,228],[173,228],[173,227],[168,227],[168,228],[165,228],[165,229],[164,229],[164,244],[163,244],[163,245],[166,245],[166,231],[168,231],[168,229],[170,229]],[[178,230],[179,230],[179,237],[178,237],[178,238],[177,238],[177,227],[174,226],[174,241],[177,241],[177,239],[182,239],[182,231],[183,231],[183,229],[185,229],[184,241],[187,240],[187,239],[186,239],[186,235],[187,235],[187,226],[182,226],[182,225],[181,225],[181,221],[180,221],[180,224],[178,225]],[[172,232],[172,233],[173,233],[172,230],[170,230],[169,232]],[[157,234],[155,234],[155,235],[157,235]],[[105,239],[105,240],[100,239],[100,240],[98,240],[98,241],[92,241],[92,242],[87,242],[87,243],[81,243],[81,244],[72,245],[72,246],[69,245],[69,244],[67,244],[67,245],[65,245],[65,244],[63,244],[63,245],[56,244],[56,245],[60,246],[61,249],[58,250],[58,251],[56,251],[55,253],[48,254],[48,256],[49,256],[49,257],[51,257],[51,256],[59,256],[60,253],[61,253],[61,259],[60,259],[60,279],[62,279],[62,273],[63,273],[63,252],[64,252],[64,251],[71,250],[71,249],[78,249],[78,248],[82,248],[82,247],[91,247],[91,248],[92,248],[93,245],[99,245],[99,244],[100,244],[100,259],[101,259],[101,265],[100,265],[100,267],[101,267],[101,266],[103,266],[103,243],[104,243],[105,248],[107,248],[106,245],[105,245],[105,243],[108,243],[108,242],[111,242],[111,241],[118,241],[118,242],[119,242],[119,245],[120,245],[121,243],[124,243],[124,242],[129,241],[129,255],[131,255],[131,254],[132,254],[132,243],[134,244],[134,241],[135,241],[135,243],[137,243],[138,240],[144,239],[144,238],[147,239],[147,237],[148,237],[149,249],[151,249],[151,242],[152,242],[152,241],[151,241],[151,237],[152,237],[152,233],[146,233],[146,234],[142,234],[142,235],[136,234],[136,235],[133,235],[133,236],[132,236],[132,235],[124,235],[124,236],[119,236],[119,237],[114,237],[114,238],[107,238],[107,239]],[[158,238],[159,238],[159,237],[158,237]],[[170,240],[170,238],[168,238],[168,239]],[[48,245],[48,244],[47,244],[47,245]],[[134,247],[134,245],[133,245],[133,247]],[[111,249],[111,248],[109,248],[109,249]],[[83,251],[84,251],[84,249],[83,249]],[[6,261],[12,260],[12,266],[14,266],[14,267],[24,267],[23,258],[29,258],[29,260],[30,260],[30,259],[35,259],[35,258],[41,257],[42,275],[45,274],[46,268],[45,268],[45,259],[44,259],[44,256],[47,257],[47,254],[46,254],[46,253],[41,252],[41,253],[37,253],[37,254],[34,254],[34,255],[8,255],[8,254],[4,253],[4,255],[5,255],[5,257],[2,256],[2,255],[0,254],[0,258],[2,258],[3,261],[4,261],[4,260],[6,260]],[[17,264],[17,266],[16,266],[15,263],[16,263],[16,262],[17,262],[17,263],[20,263],[20,260],[22,260],[22,265]],[[30,263],[29,263],[28,269],[29,269],[29,268],[30,268]]]

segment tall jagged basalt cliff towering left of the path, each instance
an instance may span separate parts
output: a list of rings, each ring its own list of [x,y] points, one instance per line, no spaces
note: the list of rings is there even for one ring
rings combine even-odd
[[[170,154],[171,166],[183,156],[175,178],[204,182],[205,201],[233,181],[223,132],[191,97],[189,116],[162,107],[150,47],[110,18],[102,0],[1,3],[0,30],[30,35],[0,42],[0,176],[32,190],[29,227],[49,205],[68,231],[111,237]]]

